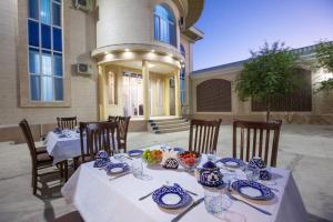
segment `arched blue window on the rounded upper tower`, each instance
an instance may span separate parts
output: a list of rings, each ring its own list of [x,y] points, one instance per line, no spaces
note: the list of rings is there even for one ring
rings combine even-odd
[[[154,39],[176,47],[175,19],[165,4],[154,7]]]

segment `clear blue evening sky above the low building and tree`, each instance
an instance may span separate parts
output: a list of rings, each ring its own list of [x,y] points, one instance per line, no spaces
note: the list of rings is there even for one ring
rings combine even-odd
[[[193,70],[250,57],[265,41],[301,48],[333,41],[333,0],[205,0]]]

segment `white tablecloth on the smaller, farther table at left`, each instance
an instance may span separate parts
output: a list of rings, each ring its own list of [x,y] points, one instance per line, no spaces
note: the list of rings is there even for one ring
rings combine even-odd
[[[84,148],[85,148],[85,140]],[[53,158],[53,164],[81,155],[80,133],[72,132],[70,138],[59,138],[59,134],[49,132],[46,141],[47,151]]]

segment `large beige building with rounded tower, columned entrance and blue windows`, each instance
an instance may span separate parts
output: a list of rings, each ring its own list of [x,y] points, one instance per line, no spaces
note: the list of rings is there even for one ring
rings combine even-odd
[[[203,0],[3,0],[0,7],[1,141],[20,134],[23,118],[42,134],[57,117],[131,115],[132,130],[145,130],[151,117],[186,112]]]

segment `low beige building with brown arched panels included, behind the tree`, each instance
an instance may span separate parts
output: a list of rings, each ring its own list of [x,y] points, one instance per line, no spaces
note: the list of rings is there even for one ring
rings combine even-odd
[[[272,102],[272,118],[285,123],[333,124],[333,92],[316,92],[319,82],[333,78],[333,73],[315,68],[315,46],[292,50],[300,56],[295,71],[300,89]],[[191,73],[191,117],[200,119],[222,118],[223,123],[234,119],[265,120],[263,102],[240,101],[234,80],[244,61],[222,64]]]

